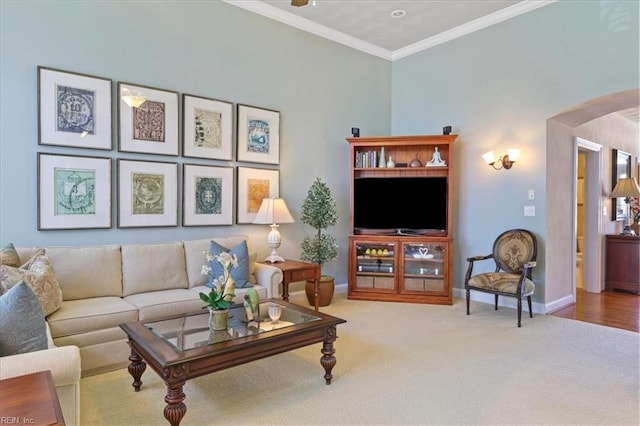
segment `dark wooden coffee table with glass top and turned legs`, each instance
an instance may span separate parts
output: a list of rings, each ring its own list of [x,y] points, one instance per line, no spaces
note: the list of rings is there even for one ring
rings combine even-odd
[[[269,302],[282,307],[275,327],[267,315]],[[187,380],[318,342],[322,342],[325,383],[331,384],[336,326],[346,321],[277,299],[263,301],[259,312],[261,321],[247,323],[244,307],[234,306],[229,328],[222,332],[209,331],[208,313],[120,325],[131,347],[128,369],[133,388],[140,391],[142,373],[151,366],[167,385],[164,417],[179,425],[187,412],[183,392]]]

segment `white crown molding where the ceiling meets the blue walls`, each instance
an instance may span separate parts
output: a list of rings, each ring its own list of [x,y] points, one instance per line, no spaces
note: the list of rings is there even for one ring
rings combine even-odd
[[[483,16],[482,18],[475,19],[466,24],[452,28],[448,31],[444,31],[433,37],[429,37],[425,40],[410,44],[406,47],[391,51],[383,49],[371,43],[367,43],[358,38],[344,34],[340,31],[336,31],[327,26],[318,24],[309,19],[302,18],[294,15],[293,13],[278,9],[277,7],[270,6],[269,4],[258,0],[223,0],[225,3],[229,3],[233,6],[240,7],[250,12],[257,13],[267,18],[282,22],[289,26],[298,28],[303,31],[315,34],[317,36],[326,38],[336,43],[351,47],[353,49],[360,50],[364,53],[368,53],[373,56],[377,56],[388,61],[395,61],[413,55],[414,53],[421,52],[431,47],[437,46],[442,43],[446,43],[458,37],[462,37],[472,32],[481,30],[483,28],[495,25],[499,22],[506,21],[518,15],[522,15],[532,10],[538,9],[543,6],[555,3],[558,0],[524,0],[520,3],[506,7],[502,10]]]

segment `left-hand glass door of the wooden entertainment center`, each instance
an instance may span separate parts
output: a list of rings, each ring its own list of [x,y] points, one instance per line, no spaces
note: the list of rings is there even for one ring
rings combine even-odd
[[[395,290],[396,244],[355,242],[357,289]]]

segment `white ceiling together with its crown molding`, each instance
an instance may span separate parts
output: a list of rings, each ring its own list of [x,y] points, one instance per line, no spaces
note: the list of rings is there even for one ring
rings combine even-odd
[[[527,13],[556,0],[224,0],[390,61]],[[394,18],[391,12],[404,10]],[[619,111],[640,122],[638,108]]]

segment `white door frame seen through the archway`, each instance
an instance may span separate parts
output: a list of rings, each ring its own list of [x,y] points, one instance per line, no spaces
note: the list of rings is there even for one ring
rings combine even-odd
[[[584,226],[582,253],[582,288],[590,293],[603,289],[602,257],[602,197],[600,181],[602,175],[602,145],[576,137],[573,167],[573,265],[576,265],[578,241],[578,151],[585,153],[584,168]],[[573,301],[576,301],[576,274],[573,272]]]

